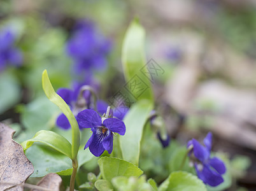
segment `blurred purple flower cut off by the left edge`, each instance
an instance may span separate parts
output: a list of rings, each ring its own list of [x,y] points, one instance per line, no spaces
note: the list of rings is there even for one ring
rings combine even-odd
[[[11,31],[0,33],[0,71],[8,64],[20,66],[22,64],[22,53],[15,48],[15,36]]]

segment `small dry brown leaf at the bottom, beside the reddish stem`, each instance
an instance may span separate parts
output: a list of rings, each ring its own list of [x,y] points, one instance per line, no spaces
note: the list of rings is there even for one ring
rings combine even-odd
[[[47,174],[41,181],[37,184],[39,187],[48,188],[49,190],[60,190],[60,185],[62,183],[62,179],[58,174],[50,173]],[[32,189],[31,191],[40,191],[38,189]]]

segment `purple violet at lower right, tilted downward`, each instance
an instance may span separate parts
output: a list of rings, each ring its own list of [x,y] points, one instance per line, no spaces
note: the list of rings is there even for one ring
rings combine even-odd
[[[191,149],[188,156],[196,168],[197,176],[205,184],[216,187],[224,181],[222,174],[225,173],[226,168],[222,160],[217,157],[210,157],[211,137],[212,134],[209,132],[204,138],[205,146],[201,145],[196,139],[192,139],[188,141],[187,148]]]

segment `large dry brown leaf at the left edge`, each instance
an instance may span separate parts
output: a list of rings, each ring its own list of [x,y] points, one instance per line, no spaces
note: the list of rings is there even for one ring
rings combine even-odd
[[[0,190],[23,190],[19,184],[34,172],[22,146],[13,141],[14,133],[13,129],[0,123]]]

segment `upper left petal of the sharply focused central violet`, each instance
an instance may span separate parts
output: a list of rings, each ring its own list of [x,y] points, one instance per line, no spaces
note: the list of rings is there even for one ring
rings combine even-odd
[[[94,128],[101,126],[101,117],[94,110],[83,110],[78,113],[76,120],[80,128]]]

